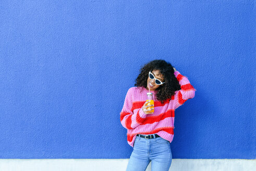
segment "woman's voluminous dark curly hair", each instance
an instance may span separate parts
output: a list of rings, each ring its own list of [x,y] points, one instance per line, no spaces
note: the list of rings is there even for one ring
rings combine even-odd
[[[160,73],[164,77],[164,84],[157,88],[156,99],[164,103],[165,100],[170,99],[175,91],[180,90],[180,84],[174,75],[173,66],[167,63],[165,60],[152,60],[148,64],[145,64],[140,69],[140,74],[135,80],[136,87],[147,88],[147,80],[149,77],[149,71],[160,70]]]

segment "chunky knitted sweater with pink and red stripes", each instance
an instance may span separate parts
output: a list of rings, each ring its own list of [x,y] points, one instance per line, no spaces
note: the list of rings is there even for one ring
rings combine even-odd
[[[196,89],[190,84],[187,77],[179,71],[174,72],[179,81],[181,90],[175,91],[170,99],[162,104],[153,93],[154,113],[145,114],[142,106],[147,100],[147,92],[144,87],[132,87],[128,90],[123,109],[120,113],[121,125],[127,129],[127,141],[133,147],[137,134],[150,135],[157,133],[163,139],[172,142],[174,136],[174,111],[188,99],[194,97]]]

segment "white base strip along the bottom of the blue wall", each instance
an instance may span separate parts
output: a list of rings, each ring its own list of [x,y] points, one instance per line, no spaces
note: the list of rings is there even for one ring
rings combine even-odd
[[[0,159],[1,171],[125,171],[129,159]],[[151,170],[151,164],[147,171]],[[256,160],[178,159],[172,171],[253,171]]]

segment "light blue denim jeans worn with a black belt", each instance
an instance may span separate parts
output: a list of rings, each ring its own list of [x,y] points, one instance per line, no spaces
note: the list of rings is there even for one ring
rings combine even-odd
[[[168,171],[172,163],[170,142],[157,137],[136,137],[126,171],[144,171],[152,161],[152,171]]]

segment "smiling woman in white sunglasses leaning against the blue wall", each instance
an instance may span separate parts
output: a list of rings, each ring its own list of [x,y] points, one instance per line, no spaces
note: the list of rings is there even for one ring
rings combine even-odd
[[[152,171],[169,170],[172,163],[170,142],[174,136],[174,111],[194,97],[196,89],[165,60],[153,60],[141,68],[136,87],[128,90],[120,113],[127,129],[127,141],[133,147],[127,171],[145,170],[152,161]],[[153,93],[149,105],[147,93]],[[150,113],[154,107],[154,113]]]

